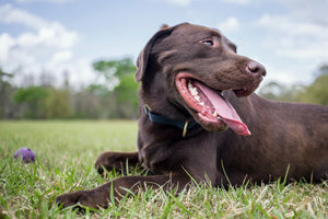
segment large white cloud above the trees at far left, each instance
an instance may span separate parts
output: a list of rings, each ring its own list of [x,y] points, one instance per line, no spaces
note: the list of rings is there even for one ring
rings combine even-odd
[[[49,22],[10,4],[0,7],[0,22],[8,25],[24,25],[28,31],[12,36],[0,31],[0,66],[4,71],[17,72],[16,81],[33,73],[38,78],[43,72],[61,77],[71,71],[71,80],[86,80],[92,77],[91,61],[77,59],[74,46],[78,33],[67,30],[58,22]],[[61,80],[59,80],[61,82]]]

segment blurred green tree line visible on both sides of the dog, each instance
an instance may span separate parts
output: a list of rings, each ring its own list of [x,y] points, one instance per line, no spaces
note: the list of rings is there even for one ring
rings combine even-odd
[[[70,87],[68,77],[59,88],[51,84],[51,78],[43,78],[38,85],[19,88],[11,83],[15,74],[0,69],[0,118],[138,118],[139,83],[134,81],[133,61],[130,58],[99,60],[93,68],[96,80],[78,91]],[[276,101],[328,106],[328,65],[318,68],[316,79],[308,85],[269,82],[258,94]]]

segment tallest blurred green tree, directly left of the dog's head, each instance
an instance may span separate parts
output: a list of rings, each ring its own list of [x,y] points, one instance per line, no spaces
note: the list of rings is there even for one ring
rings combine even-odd
[[[138,117],[138,89],[134,81],[136,66],[130,58],[99,60],[93,64],[97,80],[89,89],[97,96],[110,100],[108,116],[116,118]],[[113,115],[114,113],[114,115]]]

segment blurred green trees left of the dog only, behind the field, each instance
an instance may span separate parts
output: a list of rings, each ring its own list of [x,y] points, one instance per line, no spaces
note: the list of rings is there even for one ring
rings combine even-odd
[[[59,88],[51,84],[51,77],[38,85],[17,88],[10,82],[14,73],[0,69],[0,118],[137,118],[139,84],[133,61],[99,60],[93,68],[97,80],[78,91],[68,77]]]

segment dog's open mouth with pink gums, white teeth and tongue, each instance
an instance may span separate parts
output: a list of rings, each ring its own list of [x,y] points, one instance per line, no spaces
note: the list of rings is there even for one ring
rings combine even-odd
[[[238,135],[250,135],[235,108],[221,95],[222,91],[213,90],[184,72],[177,74],[175,83],[185,102],[196,111],[199,123],[207,129],[225,130],[229,126]]]

